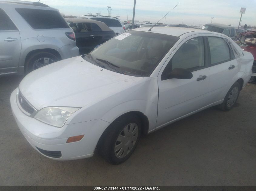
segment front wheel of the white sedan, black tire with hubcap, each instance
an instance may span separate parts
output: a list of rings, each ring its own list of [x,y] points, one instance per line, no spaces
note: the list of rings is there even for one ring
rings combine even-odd
[[[120,164],[131,156],[140,136],[141,120],[138,116],[131,114],[121,116],[103,133],[98,144],[98,152],[107,162]]]

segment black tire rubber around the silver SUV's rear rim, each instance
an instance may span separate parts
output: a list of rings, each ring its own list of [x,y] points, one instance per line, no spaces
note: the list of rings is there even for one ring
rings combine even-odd
[[[36,60],[38,60],[40,58],[50,58],[50,59],[54,60],[55,62],[60,60],[57,56],[55,56],[52,53],[48,53],[48,52],[35,53],[32,56],[30,56],[26,61],[26,64],[25,64],[26,74],[33,71],[33,64],[35,63]]]

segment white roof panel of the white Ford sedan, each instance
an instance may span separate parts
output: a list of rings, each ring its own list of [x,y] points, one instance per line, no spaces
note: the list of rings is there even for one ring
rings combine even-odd
[[[151,27],[138,27],[138,28],[132,29],[132,30],[148,32],[148,30],[150,28]],[[200,29],[194,29],[194,28],[182,28],[182,27],[153,27],[150,32],[151,33],[167,34],[167,35],[179,37],[185,33],[194,32],[194,31],[202,31],[205,33],[215,33],[215,32],[211,32],[211,31],[207,31],[207,30],[200,30]],[[216,33],[216,34],[220,34],[220,33]]]

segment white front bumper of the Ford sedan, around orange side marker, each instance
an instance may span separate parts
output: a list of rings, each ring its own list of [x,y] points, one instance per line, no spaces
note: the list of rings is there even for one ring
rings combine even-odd
[[[92,157],[98,140],[109,123],[101,119],[65,124],[58,128],[25,115],[16,102],[17,89],[11,94],[11,107],[18,127],[27,141],[42,155],[54,160]],[[66,143],[71,136],[85,135],[80,141]],[[61,153],[61,154],[60,154]]]

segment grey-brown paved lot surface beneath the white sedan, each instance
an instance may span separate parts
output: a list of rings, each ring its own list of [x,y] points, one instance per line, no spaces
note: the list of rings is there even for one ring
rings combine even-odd
[[[231,111],[210,108],[142,137],[115,166],[97,153],[53,161],[35,151],[9,103],[21,79],[0,78],[0,185],[256,185],[256,84]]]

